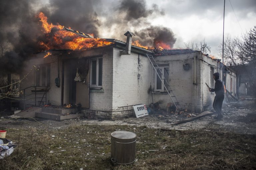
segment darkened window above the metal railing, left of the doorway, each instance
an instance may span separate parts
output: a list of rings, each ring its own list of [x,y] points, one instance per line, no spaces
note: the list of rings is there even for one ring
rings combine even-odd
[[[47,86],[50,87],[50,64],[39,65],[36,70],[36,86]]]

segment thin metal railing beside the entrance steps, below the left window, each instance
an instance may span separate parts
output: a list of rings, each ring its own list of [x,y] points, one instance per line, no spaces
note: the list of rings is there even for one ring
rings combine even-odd
[[[26,95],[26,92],[28,93],[29,88],[32,88],[31,90],[29,90],[30,94]],[[20,91],[23,91],[23,96],[20,96],[21,98],[23,98],[23,109],[26,109],[26,105],[29,105],[31,103],[34,103],[34,105],[32,105],[32,106],[36,106],[37,99],[41,99],[39,106],[44,101],[45,101],[45,104],[47,103],[47,91],[48,91],[47,86],[30,86],[30,87],[26,87]],[[43,96],[40,96],[40,95],[43,95]],[[28,98],[28,97],[30,97],[30,98]],[[34,101],[26,103],[26,101],[29,101],[32,99],[34,99]],[[45,100],[43,101],[43,99],[45,99]]]

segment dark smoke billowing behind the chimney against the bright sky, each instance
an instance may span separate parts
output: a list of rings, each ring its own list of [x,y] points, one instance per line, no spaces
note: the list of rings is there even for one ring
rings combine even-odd
[[[126,31],[135,33],[133,41],[139,40],[142,45],[158,46],[164,42],[173,47],[176,42],[170,28],[153,26],[150,18],[161,17],[165,12],[157,4],[147,6],[145,0],[122,0],[113,9],[113,15],[106,25],[114,31],[114,38],[125,41],[123,34]],[[164,24],[164,23],[163,23]]]

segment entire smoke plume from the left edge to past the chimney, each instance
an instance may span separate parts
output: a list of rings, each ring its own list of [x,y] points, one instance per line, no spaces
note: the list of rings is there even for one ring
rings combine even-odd
[[[44,50],[38,43],[46,40],[39,18],[36,17],[39,12],[48,17],[48,23],[59,23],[73,30],[93,34],[94,37],[125,41],[123,34],[129,30],[136,34],[134,40],[139,40],[142,45],[157,47],[159,43],[165,43],[173,47],[176,41],[173,32],[149,22],[165,15],[158,5],[148,6],[145,0],[114,2],[49,0],[46,3],[43,0],[0,0],[0,48],[6,47],[0,51],[7,51],[0,56],[1,71],[18,72],[28,57]],[[47,36],[51,34],[54,34],[54,30]],[[58,48],[58,44],[55,46]]]

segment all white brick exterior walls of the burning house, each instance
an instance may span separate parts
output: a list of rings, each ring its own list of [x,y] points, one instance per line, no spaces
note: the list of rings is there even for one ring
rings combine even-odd
[[[94,112],[96,117],[115,118],[131,116],[131,108],[127,106],[136,104],[148,105],[149,87],[154,90],[155,71],[148,58],[143,55],[131,52],[131,55],[119,55],[120,49],[110,46],[80,51],[78,57],[103,56],[103,79],[102,88],[104,92],[90,92],[90,109],[83,109],[84,113]],[[166,55],[156,57],[159,64],[169,65],[169,84],[178,101],[183,108],[195,111],[195,85],[194,83],[194,57],[196,57],[196,83],[197,83],[197,111],[202,112],[204,108],[211,107],[214,94],[208,91],[205,83],[210,85],[211,65],[214,65],[214,72],[222,71],[220,64],[216,61],[201,55],[199,52]],[[203,62],[203,59],[205,62]],[[207,62],[207,63],[206,63]],[[27,66],[21,74],[21,78],[32,68],[32,65],[50,63],[51,64],[51,89],[47,93],[47,101],[52,105],[60,105],[61,88],[55,86],[57,72],[57,57],[53,55],[43,58],[43,54],[38,54],[35,58],[26,62]],[[183,64],[190,65],[189,70],[183,69]],[[211,65],[209,65],[211,64]],[[60,76],[61,73],[61,62]],[[231,72],[232,73],[232,72]],[[28,80],[21,83],[21,88],[34,85],[34,71],[29,74]],[[233,90],[236,89],[235,74],[228,75],[233,78]],[[229,83],[230,84],[230,83]],[[227,87],[228,89],[229,87]],[[167,103],[172,103],[168,94],[153,94],[154,103],[159,102],[160,107],[166,109]],[[150,97],[150,102],[152,99]],[[126,109],[127,107],[127,109]]]

